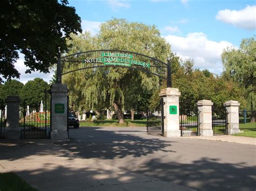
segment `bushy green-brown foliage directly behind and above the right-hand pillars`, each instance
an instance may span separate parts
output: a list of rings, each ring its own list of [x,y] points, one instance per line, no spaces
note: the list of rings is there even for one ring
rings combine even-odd
[[[180,114],[196,109],[198,100],[211,100],[214,108],[219,110],[223,109],[223,103],[228,100],[236,100],[245,105],[245,90],[238,83],[224,76],[205,74],[209,73],[193,69],[192,60],[185,60],[185,64],[173,74],[173,87],[179,88],[181,92]]]

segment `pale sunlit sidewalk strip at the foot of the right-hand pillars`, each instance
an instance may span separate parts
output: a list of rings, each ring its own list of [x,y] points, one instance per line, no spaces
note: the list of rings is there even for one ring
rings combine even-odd
[[[221,142],[240,143],[248,145],[256,145],[256,138],[253,137],[240,137],[232,135],[220,135],[220,136],[183,136],[181,138],[188,139],[205,139],[205,140],[217,140]]]

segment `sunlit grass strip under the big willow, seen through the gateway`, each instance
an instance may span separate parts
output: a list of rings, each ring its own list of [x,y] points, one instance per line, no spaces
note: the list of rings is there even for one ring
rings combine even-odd
[[[118,120],[97,120],[97,122],[80,122],[80,126],[113,126],[113,127],[137,127],[146,126],[147,120],[134,120],[125,119],[124,124],[119,124]]]

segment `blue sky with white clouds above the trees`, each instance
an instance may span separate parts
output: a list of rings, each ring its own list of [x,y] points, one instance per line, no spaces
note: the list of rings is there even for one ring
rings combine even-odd
[[[180,58],[193,59],[194,68],[215,74],[223,72],[223,50],[239,48],[241,40],[255,36],[256,30],[255,0],[69,0],[69,6],[76,8],[83,31],[92,35],[112,18],[156,25]],[[22,57],[15,66],[23,83],[34,77],[49,82],[53,75],[25,74]]]

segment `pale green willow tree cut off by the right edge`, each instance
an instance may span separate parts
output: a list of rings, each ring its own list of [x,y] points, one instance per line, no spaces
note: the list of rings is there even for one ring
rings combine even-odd
[[[242,39],[240,48],[227,48],[221,54],[224,73],[245,88],[246,107],[256,109],[256,41]],[[255,118],[253,119],[255,120]]]

